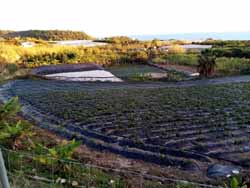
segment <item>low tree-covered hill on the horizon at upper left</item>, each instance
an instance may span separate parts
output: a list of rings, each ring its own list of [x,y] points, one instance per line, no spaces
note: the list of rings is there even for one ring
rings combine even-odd
[[[1,33],[0,33],[1,34]],[[16,31],[3,35],[4,38],[36,38],[49,41],[57,40],[90,40],[91,36],[81,31],[64,31],[64,30],[28,30]]]

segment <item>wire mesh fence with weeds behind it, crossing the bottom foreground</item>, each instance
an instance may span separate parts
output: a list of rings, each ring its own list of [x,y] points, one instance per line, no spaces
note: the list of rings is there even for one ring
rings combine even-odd
[[[144,188],[145,182],[157,184],[190,184],[194,187],[215,186],[152,176],[133,171],[105,168],[71,160],[41,157],[32,153],[17,152],[0,147],[13,187],[101,187]],[[135,179],[136,185],[128,185],[123,179]],[[133,182],[133,183],[135,183]],[[5,188],[5,187],[4,187]]]

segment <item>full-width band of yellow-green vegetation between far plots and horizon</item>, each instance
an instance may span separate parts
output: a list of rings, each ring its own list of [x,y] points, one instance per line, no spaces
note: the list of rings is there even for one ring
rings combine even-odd
[[[36,33],[35,31],[32,32]],[[55,31],[49,31],[48,33],[53,32]],[[71,32],[69,31],[69,33]],[[250,73],[250,47],[247,46],[248,41],[213,41],[214,43],[209,41],[213,48],[200,52],[184,50],[180,44],[185,41],[175,40],[138,41],[122,36],[97,40],[107,42],[108,45],[106,46],[83,47],[57,46],[48,41],[30,37],[1,41],[0,63],[16,64],[22,68],[34,68],[65,63],[96,63],[107,67],[151,61],[158,65],[176,66],[177,68],[179,68],[178,66],[186,66],[196,70],[200,55],[203,55],[215,58],[216,63],[214,66],[218,76]],[[21,46],[22,41],[31,41],[36,45],[31,48],[24,48]],[[219,47],[217,44],[220,42],[225,45]],[[238,46],[234,46],[235,44],[238,44]],[[161,46],[170,46],[170,48],[164,50]],[[3,65],[2,67],[5,68],[6,66]],[[13,65],[7,67],[13,67]]]

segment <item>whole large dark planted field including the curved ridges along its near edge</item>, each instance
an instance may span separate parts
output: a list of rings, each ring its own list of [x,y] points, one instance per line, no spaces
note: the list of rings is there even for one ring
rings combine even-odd
[[[27,118],[97,149],[183,170],[215,161],[247,169],[250,84],[194,83],[17,80],[1,96],[18,95]]]

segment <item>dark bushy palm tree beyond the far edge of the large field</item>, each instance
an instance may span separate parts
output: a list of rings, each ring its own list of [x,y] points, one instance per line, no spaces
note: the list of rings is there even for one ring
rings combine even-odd
[[[214,56],[208,56],[208,55],[200,55],[198,60],[198,72],[200,73],[201,77],[210,77],[213,76],[215,72],[215,61]]]

